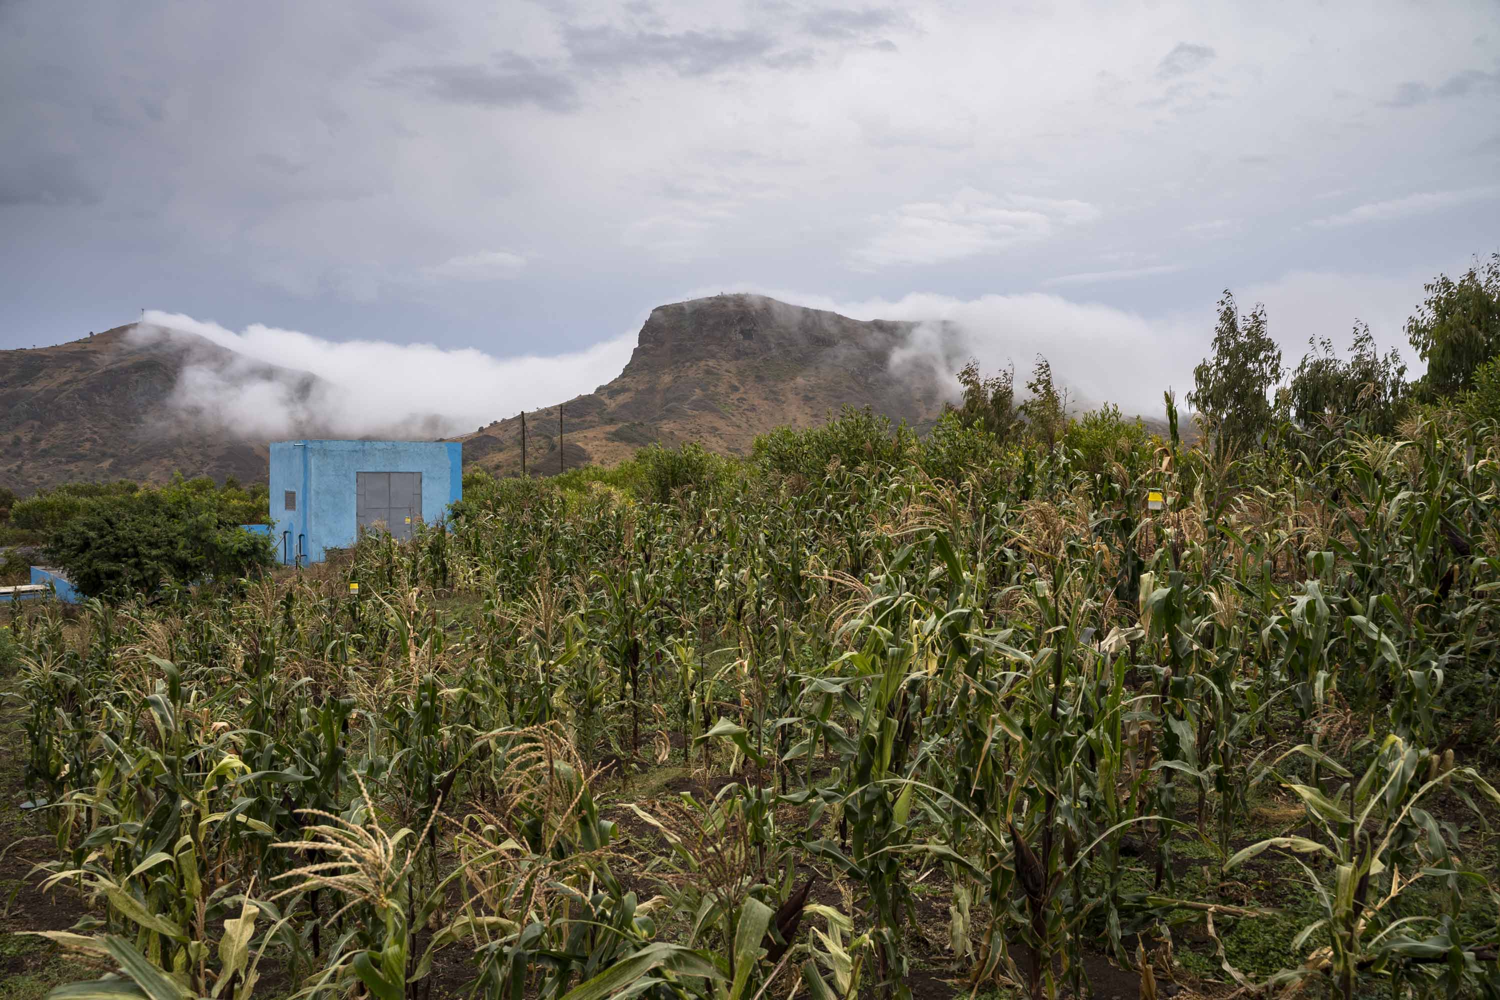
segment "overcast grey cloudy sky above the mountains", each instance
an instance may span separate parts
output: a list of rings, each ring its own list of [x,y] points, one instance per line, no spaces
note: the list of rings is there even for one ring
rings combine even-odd
[[[1500,4],[0,0],[0,346],[597,361],[760,289],[1190,369],[1226,286],[1396,343],[1500,249]]]

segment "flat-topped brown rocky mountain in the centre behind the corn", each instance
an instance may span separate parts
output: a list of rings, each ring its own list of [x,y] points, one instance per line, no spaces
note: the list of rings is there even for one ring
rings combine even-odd
[[[820,423],[843,405],[924,427],[948,379],[932,363],[900,364],[915,327],[764,295],[658,306],[620,376],[562,405],[562,466],[610,465],[654,441],[744,454],[756,435]],[[528,412],[526,435],[530,471],[556,472],[558,408]],[[459,439],[465,465],[520,471],[519,415]]]

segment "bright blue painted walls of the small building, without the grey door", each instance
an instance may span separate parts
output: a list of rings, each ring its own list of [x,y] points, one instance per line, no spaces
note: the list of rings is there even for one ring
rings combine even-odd
[[[286,564],[322,562],[328,549],[352,546],[356,472],[422,472],[422,514],[447,517],[464,496],[464,447],[456,441],[273,441],[272,541]],[[297,492],[297,510],[285,507]]]

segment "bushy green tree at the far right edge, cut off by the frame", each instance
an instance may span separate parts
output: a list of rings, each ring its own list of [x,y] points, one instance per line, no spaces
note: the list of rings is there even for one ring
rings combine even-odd
[[[1500,252],[1455,282],[1438,274],[1426,301],[1407,321],[1407,337],[1426,361],[1424,396],[1452,396],[1473,385],[1474,372],[1500,355]]]

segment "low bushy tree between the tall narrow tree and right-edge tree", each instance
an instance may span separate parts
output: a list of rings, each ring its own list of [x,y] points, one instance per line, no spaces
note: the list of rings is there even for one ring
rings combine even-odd
[[[1338,357],[1328,337],[1308,340],[1288,387],[1298,423],[1311,426],[1324,414],[1362,420],[1365,430],[1389,435],[1406,402],[1406,364],[1395,349],[1382,357],[1370,325],[1354,324],[1348,360]]]

